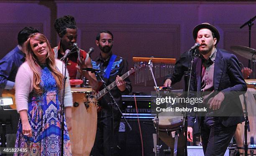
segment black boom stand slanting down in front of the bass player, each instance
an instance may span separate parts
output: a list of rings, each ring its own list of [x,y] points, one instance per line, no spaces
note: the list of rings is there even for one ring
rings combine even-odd
[[[92,71],[92,73],[94,73]],[[100,81],[102,82],[104,88],[108,91],[108,95],[110,96],[110,98],[112,99],[111,103],[108,103],[111,107],[111,116],[110,116],[110,155],[113,156],[113,136],[114,136],[114,116],[113,116],[113,105],[115,105],[118,110],[120,111],[121,115],[123,116],[122,111],[120,110],[118,104],[116,103],[114,97],[112,96],[112,94],[110,93],[110,90],[108,89],[108,87],[106,86],[106,82],[103,80],[102,76],[100,75],[100,72],[95,71],[96,75],[100,78]],[[128,125],[128,127],[130,128],[130,131],[132,130],[131,125],[128,123],[128,121],[126,120],[125,116],[123,116],[123,119],[125,120],[126,124]]]

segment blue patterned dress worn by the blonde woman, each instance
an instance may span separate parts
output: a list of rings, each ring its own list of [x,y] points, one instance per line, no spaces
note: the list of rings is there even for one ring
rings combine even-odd
[[[59,92],[56,81],[46,65],[41,66],[41,95],[32,91],[28,99],[28,121],[32,136],[22,134],[21,120],[18,124],[16,148],[28,148],[30,153],[14,154],[15,156],[59,156],[61,143]],[[64,118],[64,156],[71,156],[71,146]]]

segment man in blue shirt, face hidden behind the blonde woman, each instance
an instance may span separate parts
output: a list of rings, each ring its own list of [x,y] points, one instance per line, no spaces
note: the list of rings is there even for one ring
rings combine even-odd
[[[15,77],[18,68],[25,62],[25,53],[23,52],[23,43],[28,36],[39,31],[32,27],[25,27],[18,33],[18,45],[7,53],[0,60],[0,95],[4,89],[13,89],[15,87]],[[6,106],[5,106],[6,107]],[[18,125],[15,125],[18,126]],[[14,147],[16,134],[6,134],[7,147]]]

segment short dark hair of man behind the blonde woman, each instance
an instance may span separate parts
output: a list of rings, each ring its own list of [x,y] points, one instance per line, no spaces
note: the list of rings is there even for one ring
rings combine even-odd
[[[28,40],[28,36],[33,33],[39,33],[39,30],[33,27],[25,27],[22,30],[20,30],[20,32],[18,33],[18,44],[22,46],[23,43],[25,43],[26,40]]]

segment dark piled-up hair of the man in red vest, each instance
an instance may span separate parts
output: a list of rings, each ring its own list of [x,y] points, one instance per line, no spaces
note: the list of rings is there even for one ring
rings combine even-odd
[[[60,38],[62,38],[67,33],[67,28],[77,29],[77,25],[73,16],[67,15],[55,20],[54,29],[57,31]]]

